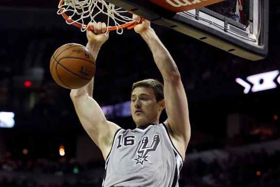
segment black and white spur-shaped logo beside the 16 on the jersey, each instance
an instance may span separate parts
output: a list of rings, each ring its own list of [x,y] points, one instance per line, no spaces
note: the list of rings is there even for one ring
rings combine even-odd
[[[149,137],[145,136],[141,140],[141,144],[137,150],[137,158],[133,159],[136,161],[135,165],[140,164],[143,167],[144,162],[150,162],[147,158],[151,155],[148,155],[149,152],[153,152],[157,150],[157,146],[160,142],[160,138],[158,134],[155,134],[153,137],[153,142],[150,146],[147,146],[149,143]]]

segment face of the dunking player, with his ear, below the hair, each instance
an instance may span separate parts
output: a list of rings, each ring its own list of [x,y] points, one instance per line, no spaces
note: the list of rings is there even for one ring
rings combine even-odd
[[[164,101],[157,103],[154,90],[149,87],[136,87],[131,94],[131,113],[137,127],[150,123],[158,124]]]

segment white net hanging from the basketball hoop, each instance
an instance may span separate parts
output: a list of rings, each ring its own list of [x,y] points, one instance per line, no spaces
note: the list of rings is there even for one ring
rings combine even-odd
[[[81,27],[81,31],[88,29],[89,22],[105,22],[104,20],[95,20],[100,13],[107,16],[107,26],[110,24],[116,26],[114,30],[118,34],[123,33],[122,24],[133,20],[132,14],[128,14],[131,15],[131,18],[129,18],[126,10],[104,0],[60,0],[58,8],[57,14],[67,15],[66,22],[75,26],[78,25]],[[109,28],[107,27],[107,31]]]

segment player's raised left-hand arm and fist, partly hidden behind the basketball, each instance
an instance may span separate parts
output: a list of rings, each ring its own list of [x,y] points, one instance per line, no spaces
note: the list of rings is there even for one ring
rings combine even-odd
[[[102,44],[105,43],[109,36],[108,33],[103,34],[106,32],[105,23],[93,23],[90,24],[90,27],[94,29],[94,31],[87,31],[87,48],[91,51],[94,59],[96,59]],[[104,159],[106,159],[112,147],[114,134],[120,127],[106,120],[101,107],[93,99],[93,80],[92,78],[92,80],[82,88],[71,90],[70,97],[84,129],[94,143],[100,148]]]

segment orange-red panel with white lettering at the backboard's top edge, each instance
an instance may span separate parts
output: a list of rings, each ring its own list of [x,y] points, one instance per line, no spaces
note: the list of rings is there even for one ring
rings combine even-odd
[[[150,0],[151,2],[171,10],[173,12],[184,12],[192,10],[224,0]]]

